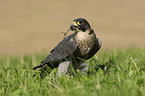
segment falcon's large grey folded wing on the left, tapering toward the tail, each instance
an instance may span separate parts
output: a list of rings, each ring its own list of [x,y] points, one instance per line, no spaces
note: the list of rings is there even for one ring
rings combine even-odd
[[[52,51],[50,55],[46,57],[44,61],[41,62],[39,66],[33,68],[33,70],[42,67],[44,64],[49,64],[50,62],[62,61],[67,58],[77,49],[77,44],[74,39],[75,33],[64,38]]]

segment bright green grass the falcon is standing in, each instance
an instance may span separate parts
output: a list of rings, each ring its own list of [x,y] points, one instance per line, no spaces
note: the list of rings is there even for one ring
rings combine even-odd
[[[145,48],[101,50],[88,60],[89,70],[109,59],[116,68],[109,73],[99,69],[88,77],[56,77],[57,69],[43,80],[32,68],[47,54],[0,57],[0,96],[145,96]],[[97,62],[96,62],[97,61]],[[72,72],[72,67],[70,68]]]

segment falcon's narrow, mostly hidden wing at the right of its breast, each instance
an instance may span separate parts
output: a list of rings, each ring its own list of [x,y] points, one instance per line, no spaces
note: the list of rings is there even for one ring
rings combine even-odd
[[[101,48],[101,45],[102,45],[101,40],[99,38],[96,38],[95,45],[93,49],[89,52],[87,59],[90,59],[92,56],[94,56]]]

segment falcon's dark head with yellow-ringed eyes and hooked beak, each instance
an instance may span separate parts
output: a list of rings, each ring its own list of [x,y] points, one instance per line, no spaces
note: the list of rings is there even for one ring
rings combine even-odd
[[[77,18],[77,19],[73,20],[73,23],[70,25],[70,29],[72,31],[83,31],[83,32],[85,32],[89,28],[91,28],[90,24],[84,18]]]

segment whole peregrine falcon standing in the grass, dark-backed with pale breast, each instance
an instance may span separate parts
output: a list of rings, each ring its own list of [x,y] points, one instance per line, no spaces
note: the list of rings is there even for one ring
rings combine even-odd
[[[40,68],[42,78],[47,74],[48,67],[51,69],[58,67],[57,75],[60,77],[61,74],[68,72],[70,64],[75,71],[79,69],[84,73],[89,68],[85,60],[90,59],[101,48],[100,39],[96,38],[86,19],[73,20],[70,30],[74,33],[65,37],[40,65],[33,68],[33,70]]]

